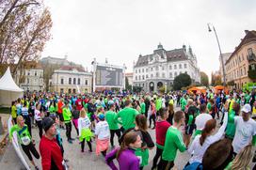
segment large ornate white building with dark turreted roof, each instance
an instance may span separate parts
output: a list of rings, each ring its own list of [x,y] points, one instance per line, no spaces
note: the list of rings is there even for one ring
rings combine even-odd
[[[190,75],[193,83],[200,83],[200,69],[192,48],[166,51],[161,44],[153,54],[139,55],[134,66],[134,84],[145,91],[157,91],[163,85],[173,85],[173,80],[181,73]]]

